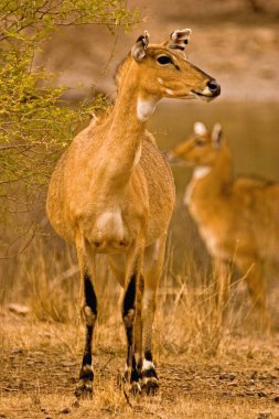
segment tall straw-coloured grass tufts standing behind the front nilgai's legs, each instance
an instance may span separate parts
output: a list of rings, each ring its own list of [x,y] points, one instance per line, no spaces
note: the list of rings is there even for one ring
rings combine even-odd
[[[226,326],[223,326],[221,313],[216,312],[211,275],[206,273],[204,266],[197,266],[193,255],[185,255],[183,259],[182,269],[178,272],[169,243],[154,324],[158,354],[186,352],[211,356],[227,345],[232,333],[254,333],[253,308],[245,278],[230,287]],[[96,341],[100,346],[121,345],[125,341],[120,316],[122,290],[101,257],[97,277],[99,316]],[[32,248],[20,255],[9,278],[3,272],[1,278],[0,312],[15,302],[29,307],[30,316],[35,322],[79,326],[76,256],[74,249],[60,239],[50,243],[36,238]],[[111,330],[110,333],[107,329]]]

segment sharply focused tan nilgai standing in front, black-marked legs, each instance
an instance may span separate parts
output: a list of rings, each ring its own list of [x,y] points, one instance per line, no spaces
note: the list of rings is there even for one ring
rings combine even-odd
[[[190,33],[175,31],[168,41],[151,45],[147,32],[138,39],[118,68],[112,110],[74,139],[50,183],[47,214],[55,230],[75,244],[83,283],[86,342],[76,395],[93,389],[96,254],[107,256],[125,288],[125,376],[135,391],[158,387],[152,322],[174,185],[146,121],[162,97],[219,95],[219,85],[186,60]]]

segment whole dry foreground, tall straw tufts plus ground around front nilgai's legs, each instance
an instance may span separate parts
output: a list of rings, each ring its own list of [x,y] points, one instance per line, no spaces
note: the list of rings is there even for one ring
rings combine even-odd
[[[278,336],[251,330],[243,281],[232,289],[222,326],[205,272],[192,256],[178,272],[170,246],[154,323],[161,390],[133,399],[119,387],[126,347],[121,290],[100,264],[95,393],[76,404],[84,339],[76,259],[60,240],[50,246],[39,239],[2,288],[0,418],[278,418]],[[30,313],[11,313],[9,302]]]

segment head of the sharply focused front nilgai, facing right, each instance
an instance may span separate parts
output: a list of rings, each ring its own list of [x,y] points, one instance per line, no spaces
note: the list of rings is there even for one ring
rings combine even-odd
[[[143,98],[194,98],[212,100],[219,84],[187,61],[185,46],[190,29],[178,30],[161,44],[149,44],[149,33],[138,37],[131,50],[130,69]]]

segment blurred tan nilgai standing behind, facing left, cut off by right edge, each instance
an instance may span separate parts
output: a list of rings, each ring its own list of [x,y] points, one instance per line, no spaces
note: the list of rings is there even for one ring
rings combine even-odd
[[[196,122],[191,138],[172,154],[194,165],[184,201],[214,259],[219,304],[226,304],[234,262],[266,324],[265,268],[279,262],[279,184],[235,179],[218,123],[210,133]]]

